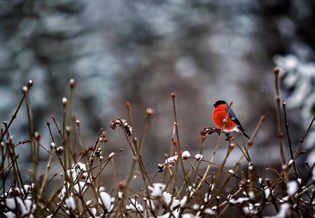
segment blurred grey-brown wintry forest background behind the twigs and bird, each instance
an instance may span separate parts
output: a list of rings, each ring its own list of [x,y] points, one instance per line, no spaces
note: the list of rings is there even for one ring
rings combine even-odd
[[[33,80],[35,130],[49,147],[45,122],[55,114],[61,125],[62,97],[69,93],[69,79],[75,79],[73,114],[86,147],[113,118],[127,118],[127,101],[139,137],[146,108],[155,110],[143,156],[156,172],[171,145],[172,92],[181,147],[192,155],[200,147],[200,129],[213,125],[214,102],[233,101],[248,135],[265,114],[251,154],[262,168],[276,166],[272,69],[281,69],[281,100],[287,100],[295,147],[314,115],[314,11],[315,1],[307,0],[0,0],[1,121],[10,120],[22,86]],[[314,148],[314,132],[305,149]],[[15,142],[28,137],[25,106],[11,135]],[[132,161],[123,132],[108,135],[105,152],[123,148],[116,161]],[[209,136],[206,152],[211,154],[215,143],[216,136]],[[29,147],[19,149],[27,163]],[[219,154],[225,151],[221,147]],[[309,161],[314,157],[313,151]],[[123,176],[128,170],[123,165],[117,171]]]

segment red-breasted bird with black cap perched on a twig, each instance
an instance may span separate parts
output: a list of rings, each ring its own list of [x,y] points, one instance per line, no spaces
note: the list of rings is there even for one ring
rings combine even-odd
[[[225,123],[226,118],[228,119]],[[237,131],[250,139],[250,137],[246,134],[244,128],[241,126],[241,123],[237,119],[236,115],[225,101],[218,100],[216,103],[214,103],[212,120],[214,121],[214,124],[216,124],[216,126],[221,130],[223,128],[223,123],[225,123],[223,129],[224,132]]]

